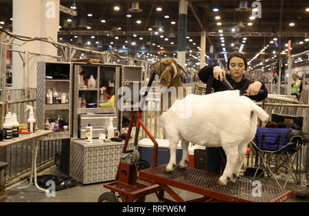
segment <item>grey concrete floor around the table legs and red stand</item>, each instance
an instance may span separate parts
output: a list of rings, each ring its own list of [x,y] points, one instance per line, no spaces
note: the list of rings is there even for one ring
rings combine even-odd
[[[43,173],[64,175],[56,166],[52,166],[38,173],[38,175],[43,175]],[[56,191],[55,197],[47,197],[44,192],[39,191],[34,185],[25,189],[17,189],[19,186],[27,185],[27,181],[23,181],[6,188],[5,196],[0,197],[0,202],[98,202],[98,197],[100,197],[102,193],[110,192],[103,187],[104,183],[106,182],[87,185],[78,183],[77,186],[72,188]],[[262,182],[262,184],[264,184],[264,182]],[[179,188],[172,187],[172,189],[186,200],[201,197],[201,195],[183,191]],[[170,196],[166,195],[166,197]],[[147,195],[146,202],[158,202],[157,196],[155,194]],[[287,202],[309,202],[309,198],[296,197],[296,199],[288,199]]]

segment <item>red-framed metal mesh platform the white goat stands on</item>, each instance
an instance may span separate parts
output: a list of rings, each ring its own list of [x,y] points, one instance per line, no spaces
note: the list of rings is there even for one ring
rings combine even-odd
[[[236,183],[229,182],[226,186],[221,186],[217,183],[220,176],[214,173],[190,167],[179,169],[178,166],[172,173],[165,173],[166,165],[139,171],[139,177],[159,184],[176,202],[285,202],[287,199],[295,198],[295,193],[292,191],[264,184],[260,185],[261,196],[253,196],[252,192],[256,191],[257,185],[252,184],[250,180],[237,179]],[[169,186],[204,195],[204,197],[185,201]],[[163,195],[162,191],[157,193],[159,200],[174,202]]]

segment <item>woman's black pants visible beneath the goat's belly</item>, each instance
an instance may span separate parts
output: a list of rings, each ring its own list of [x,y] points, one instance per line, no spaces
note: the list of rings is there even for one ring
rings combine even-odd
[[[220,175],[227,164],[227,155],[222,147],[206,147],[206,171]]]

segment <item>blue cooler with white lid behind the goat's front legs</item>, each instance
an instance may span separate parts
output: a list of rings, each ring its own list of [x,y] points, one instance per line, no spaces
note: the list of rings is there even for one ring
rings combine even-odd
[[[170,144],[168,140],[156,139],[158,142],[158,159],[157,165],[168,164],[170,162]],[[144,160],[149,166],[152,166],[152,154],[153,154],[153,142],[144,138],[139,140],[138,143],[139,160]],[[181,157],[183,156],[183,150],[181,144],[177,145],[176,149],[176,163],[179,164]]]

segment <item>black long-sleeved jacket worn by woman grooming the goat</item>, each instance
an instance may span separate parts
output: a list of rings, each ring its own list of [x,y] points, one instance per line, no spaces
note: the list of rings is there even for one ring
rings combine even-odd
[[[210,93],[211,89],[209,87],[213,87],[215,92],[216,91],[226,91],[226,90],[228,90],[227,87],[225,87],[225,85],[220,80],[216,80],[216,78],[214,78],[213,68],[214,68],[214,66],[205,66],[198,72],[198,77],[201,79],[201,81],[203,83],[207,84],[206,94]],[[248,80],[247,78],[244,78],[243,76],[242,76],[242,80],[239,83],[236,83],[231,78],[231,75],[229,75],[229,74],[226,74],[225,77],[227,78],[227,80],[229,81],[229,83],[231,84],[231,86],[234,89],[238,89],[240,91],[246,91],[248,89],[249,85],[251,83],[253,83],[250,80]],[[265,98],[267,98],[268,91],[267,91],[264,83],[262,83],[261,89],[264,90],[264,94],[258,94],[256,96],[249,96],[249,98],[251,98],[251,100],[256,100],[256,101],[261,101],[261,100],[264,100]]]

